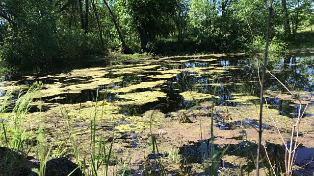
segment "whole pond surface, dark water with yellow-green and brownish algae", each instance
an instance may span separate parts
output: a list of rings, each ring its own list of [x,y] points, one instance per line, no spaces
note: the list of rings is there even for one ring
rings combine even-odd
[[[131,175],[143,174],[144,168],[154,170],[156,155],[152,154],[150,131],[157,135],[166,171],[177,175],[208,174],[212,150],[209,107],[214,104],[214,151],[220,152],[219,172],[222,175],[238,175],[240,170],[254,173],[258,141],[254,128],[259,126],[260,92],[257,59],[262,58],[262,55],[235,54],[165,57],[124,65],[89,63],[88,68],[77,65],[75,69],[54,68],[50,73],[3,76],[0,102],[6,91],[13,91],[14,97],[22,85],[41,81],[43,87],[34,95],[35,101],[25,119],[26,130],[36,133],[44,123],[51,145],[66,146],[61,114],[65,111],[78,148],[86,149],[90,146],[90,119],[97,99],[97,135],[107,143],[115,138],[114,157],[116,160],[130,157]],[[309,75],[314,75],[314,53],[271,55],[267,69],[305,107],[314,90],[309,84]],[[288,141],[290,124],[295,123],[300,102],[270,74],[266,79],[269,110]],[[282,140],[267,108],[263,110],[263,171],[268,173],[270,169],[265,151],[275,169],[284,170]],[[193,123],[180,123],[182,116]],[[307,131],[313,117],[311,101],[302,117],[300,136]],[[295,164],[299,168],[294,173],[312,176],[313,159],[312,126],[297,152]],[[111,166],[111,173],[116,169]]]

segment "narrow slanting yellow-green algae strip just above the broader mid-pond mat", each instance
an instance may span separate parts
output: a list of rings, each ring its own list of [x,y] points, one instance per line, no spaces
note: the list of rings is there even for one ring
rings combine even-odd
[[[136,85],[131,85],[125,88],[118,88],[118,89],[109,89],[106,91],[110,91],[110,92],[130,92],[131,90],[135,90],[137,88],[154,88],[157,85],[161,85],[163,83],[165,83],[166,81],[164,80],[159,80],[159,81],[152,81],[152,82],[141,82],[139,84]]]

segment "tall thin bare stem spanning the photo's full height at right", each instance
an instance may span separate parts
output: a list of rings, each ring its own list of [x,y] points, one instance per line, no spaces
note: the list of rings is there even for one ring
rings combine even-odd
[[[268,24],[267,24],[267,34],[266,34],[266,49],[265,49],[265,60],[263,66],[263,75],[262,75],[262,85],[261,85],[261,96],[260,96],[260,127],[259,127],[259,145],[257,147],[257,156],[256,156],[256,176],[260,176],[260,150],[261,150],[261,143],[262,143],[262,112],[263,112],[263,83],[265,79],[265,72],[266,72],[266,64],[268,59],[268,45],[269,45],[269,33],[270,33],[270,21],[271,15],[273,12],[273,2],[271,0],[270,7],[269,7],[269,16],[268,16]]]

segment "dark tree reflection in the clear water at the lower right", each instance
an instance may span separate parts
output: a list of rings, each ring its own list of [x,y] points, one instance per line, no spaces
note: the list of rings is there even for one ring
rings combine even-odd
[[[201,163],[203,164],[204,161],[208,162],[210,160],[210,143],[208,140],[204,140],[201,142],[191,142],[189,145],[183,145],[180,148],[179,154],[182,155],[182,165],[193,165],[194,163]],[[220,167],[231,167],[231,168],[240,168],[242,167],[244,171],[251,172],[255,169],[254,158],[256,157],[256,150],[257,144],[249,142],[249,141],[242,141],[239,144],[235,145],[215,145],[216,152],[223,151],[224,149],[228,149],[225,152],[225,155],[233,155],[242,158],[246,158],[247,164],[243,166],[235,165],[225,160],[224,162],[220,162]],[[266,151],[269,157],[270,162],[275,169],[275,171],[285,172],[285,147],[283,145],[266,143],[265,144]],[[314,151],[313,148],[306,148],[301,147],[298,149],[298,153],[304,152],[312,152]],[[266,158],[265,150],[262,150],[261,153],[261,166],[268,168],[270,172],[270,165]],[[299,154],[296,156],[296,164],[300,165],[298,161],[304,161],[311,159],[311,154]],[[313,159],[313,158],[312,158]],[[189,169],[189,168],[186,168]],[[270,174],[270,173],[269,173]]]

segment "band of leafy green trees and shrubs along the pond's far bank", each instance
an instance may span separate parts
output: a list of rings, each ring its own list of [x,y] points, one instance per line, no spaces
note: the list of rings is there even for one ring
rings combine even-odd
[[[275,0],[270,50],[313,46],[313,7],[313,0]],[[0,61],[38,65],[115,51],[258,53],[267,17],[264,0],[1,0]]]

